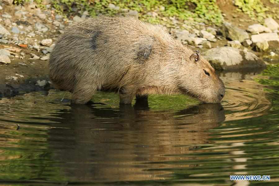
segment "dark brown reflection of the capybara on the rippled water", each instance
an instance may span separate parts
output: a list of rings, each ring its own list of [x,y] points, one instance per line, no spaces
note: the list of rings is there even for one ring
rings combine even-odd
[[[142,106],[145,110],[138,109]],[[225,119],[219,104],[201,104],[174,113],[146,106],[136,103],[104,111],[74,105],[69,113],[62,111],[60,119],[52,119],[55,123],[50,125],[47,140],[66,176],[81,182],[162,179],[169,171],[148,169],[176,167],[156,162],[181,160],[179,155],[187,154],[194,144],[209,143],[206,130]]]

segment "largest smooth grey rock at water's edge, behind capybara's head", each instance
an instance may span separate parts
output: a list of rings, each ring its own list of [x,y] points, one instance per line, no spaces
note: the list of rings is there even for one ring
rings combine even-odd
[[[241,69],[264,67],[265,63],[251,52],[245,52],[230,46],[213,48],[202,53],[216,69]]]

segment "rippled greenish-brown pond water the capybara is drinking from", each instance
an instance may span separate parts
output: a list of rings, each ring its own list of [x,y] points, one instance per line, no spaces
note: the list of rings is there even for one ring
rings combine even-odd
[[[222,105],[154,95],[119,108],[97,93],[71,106],[56,90],[2,98],[0,184],[279,185],[278,69],[221,73]]]

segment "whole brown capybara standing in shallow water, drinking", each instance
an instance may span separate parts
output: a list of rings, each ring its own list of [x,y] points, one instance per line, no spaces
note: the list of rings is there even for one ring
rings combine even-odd
[[[160,25],[132,17],[87,19],[65,30],[51,53],[50,79],[85,104],[97,91],[135,96],[188,94],[203,102],[220,102],[225,87],[211,65]]]

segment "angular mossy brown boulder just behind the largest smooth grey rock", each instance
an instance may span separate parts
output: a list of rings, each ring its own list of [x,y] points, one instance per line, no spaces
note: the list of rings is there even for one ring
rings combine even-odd
[[[238,28],[228,22],[223,23],[222,29],[220,31],[224,37],[231,40],[243,42],[245,39],[250,38],[249,34],[245,30]]]

